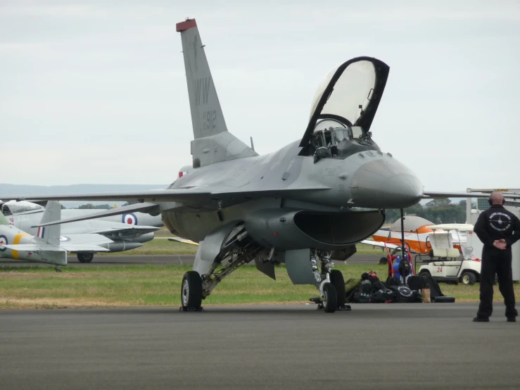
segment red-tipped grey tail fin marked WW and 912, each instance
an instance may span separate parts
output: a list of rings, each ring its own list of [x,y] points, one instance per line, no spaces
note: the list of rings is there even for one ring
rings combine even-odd
[[[195,19],[177,23],[177,32],[181,33],[194,137],[198,139],[227,132]]]

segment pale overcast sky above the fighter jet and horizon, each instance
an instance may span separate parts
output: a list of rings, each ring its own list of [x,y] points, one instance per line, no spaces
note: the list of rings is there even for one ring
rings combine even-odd
[[[452,0],[0,0],[0,182],[172,182],[191,164],[186,17],[259,153],[302,137],[331,68],[375,56],[383,151],[429,190],[520,187],[520,1]]]

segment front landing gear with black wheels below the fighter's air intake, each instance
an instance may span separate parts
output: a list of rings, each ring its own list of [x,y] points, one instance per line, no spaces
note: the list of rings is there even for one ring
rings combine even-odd
[[[315,251],[310,263],[315,274],[315,286],[319,289],[320,296],[310,298],[311,302],[318,304],[318,309],[325,313],[334,313],[336,310],[351,310],[346,303],[345,279],[339,270],[331,270],[334,263],[329,252]],[[318,271],[317,261],[321,263],[321,272]]]

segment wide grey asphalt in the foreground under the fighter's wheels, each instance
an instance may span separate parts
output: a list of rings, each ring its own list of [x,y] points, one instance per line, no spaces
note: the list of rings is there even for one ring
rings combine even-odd
[[[496,309],[3,310],[0,389],[519,389],[520,322]]]

